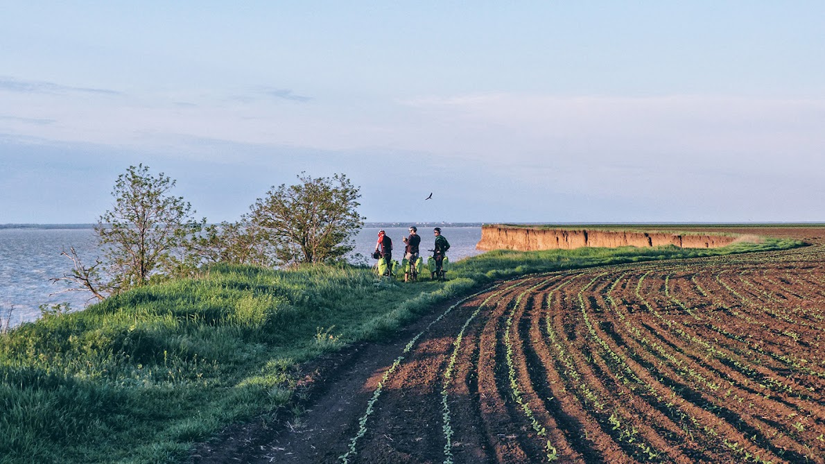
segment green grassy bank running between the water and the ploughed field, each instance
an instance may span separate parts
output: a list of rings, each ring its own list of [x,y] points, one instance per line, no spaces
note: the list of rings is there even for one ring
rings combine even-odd
[[[0,462],[177,462],[224,425],[287,405],[299,362],[387,336],[495,279],[797,244],[494,251],[456,263],[446,283],[382,282],[365,268],[216,266],[4,336]]]

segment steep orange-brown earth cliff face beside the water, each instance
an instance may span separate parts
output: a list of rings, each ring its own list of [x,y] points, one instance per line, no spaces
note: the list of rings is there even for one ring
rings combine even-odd
[[[676,245],[681,248],[719,248],[735,237],[704,234],[666,234],[621,232],[607,230],[526,229],[502,225],[484,225],[476,249],[577,249],[581,247],[658,247]]]

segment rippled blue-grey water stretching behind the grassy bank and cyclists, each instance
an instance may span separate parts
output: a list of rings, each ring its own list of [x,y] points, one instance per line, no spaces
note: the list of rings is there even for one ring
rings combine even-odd
[[[372,264],[370,254],[375,249],[381,227],[368,225],[356,235],[356,249],[362,258],[351,257],[353,262]],[[402,238],[407,236],[407,226],[383,227],[393,239],[394,257],[403,253]],[[441,232],[450,241],[447,255],[455,262],[482,253],[475,249],[481,239],[481,227],[441,225]],[[418,227],[422,236],[422,255],[435,242],[432,227]],[[3,324],[11,310],[12,326],[40,316],[40,305],[68,302],[73,309],[87,305],[91,293],[65,290],[67,283],[51,283],[50,277],[61,277],[72,268],[72,262],[60,252],[74,247],[84,263],[91,264],[97,258],[97,240],[92,229],[0,229],[0,320]]]

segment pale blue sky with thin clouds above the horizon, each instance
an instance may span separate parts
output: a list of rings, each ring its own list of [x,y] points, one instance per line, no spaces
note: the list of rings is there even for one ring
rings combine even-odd
[[[210,222],[301,173],[374,222],[825,221],[825,2],[0,11],[0,224],[138,163]]]

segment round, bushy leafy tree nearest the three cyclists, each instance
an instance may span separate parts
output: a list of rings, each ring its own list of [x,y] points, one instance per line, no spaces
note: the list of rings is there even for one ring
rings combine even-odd
[[[250,206],[247,220],[259,228],[279,263],[337,263],[355,249],[352,237],[365,217],[359,187],[345,174],[332,178],[297,176],[299,183],[272,187]]]

